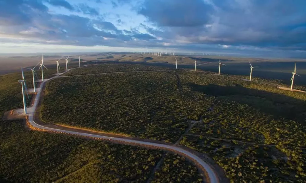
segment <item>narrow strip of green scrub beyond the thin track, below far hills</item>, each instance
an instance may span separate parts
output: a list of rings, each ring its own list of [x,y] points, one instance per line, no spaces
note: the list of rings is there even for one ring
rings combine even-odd
[[[99,64],[90,65],[86,68],[76,68],[65,73],[63,76],[75,76],[85,74],[100,74],[100,73],[113,73],[113,72],[126,72],[126,71],[143,71],[143,70],[170,70],[168,67],[158,67],[141,64]]]

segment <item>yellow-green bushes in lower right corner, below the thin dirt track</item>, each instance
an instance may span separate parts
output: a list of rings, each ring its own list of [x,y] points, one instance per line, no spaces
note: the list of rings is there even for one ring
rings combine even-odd
[[[185,136],[180,142],[207,153],[231,182],[305,182],[305,149],[221,141],[202,135]]]

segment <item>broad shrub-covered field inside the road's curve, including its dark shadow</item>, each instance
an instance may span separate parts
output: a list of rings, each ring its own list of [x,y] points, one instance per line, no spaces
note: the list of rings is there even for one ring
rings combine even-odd
[[[232,182],[303,182],[305,100],[304,93],[203,72],[119,73],[50,81],[41,118],[172,143],[198,121],[180,144],[214,158]]]

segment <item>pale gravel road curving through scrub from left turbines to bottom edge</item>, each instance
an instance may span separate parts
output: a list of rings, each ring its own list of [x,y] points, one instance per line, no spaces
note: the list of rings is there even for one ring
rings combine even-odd
[[[134,72],[134,71],[132,71],[132,72]],[[147,72],[147,71],[145,71],[145,72]],[[62,73],[62,74],[64,74],[64,73]],[[107,73],[107,74],[110,74],[110,73]],[[69,135],[78,135],[78,136],[83,136],[83,137],[87,137],[87,138],[110,140],[110,141],[119,142],[119,143],[123,143],[123,144],[140,145],[140,146],[145,146],[145,147],[152,148],[152,149],[163,149],[163,150],[175,152],[175,153],[178,153],[180,155],[186,156],[188,159],[190,159],[194,163],[196,163],[196,165],[198,165],[202,170],[204,170],[206,172],[207,180],[209,182],[219,183],[218,177],[215,174],[214,170],[207,163],[205,163],[200,157],[196,156],[195,154],[193,154],[193,153],[191,153],[191,152],[189,152],[185,149],[176,147],[174,145],[165,145],[165,144],[137,141],[137,140],[131,140],[131,139],[125,139],[125,138],[116,138],[116,137],[109,137],[109,136],[104,136],[104,135],[94,135],[94,134],[88,134],[88,133],[80,133],[80,132],[76,132],[76,131],[67,131],[67,130],[61,130],[61,129],[57,129],[57,128],[45,127],[43,125],[39,125],[39,124],[35,123],[34,113],[37,109],[44,84],[46,84],[47,81],[50,81],[54,78],[59,77],[60,75],[54,76],[54,77],[52,77],[48,80],[43,81],[39,86],[39,90],[38,90],[38,92],[37,92],[37,94],[35,95],[35,98],[34,98],[33,106],[29,107],[29,109],[31,108],[29,111],[32,111],[32,112],[27,114],[28,115],[27,123],[33,130],[49,131],[49,132],[69,134]]]

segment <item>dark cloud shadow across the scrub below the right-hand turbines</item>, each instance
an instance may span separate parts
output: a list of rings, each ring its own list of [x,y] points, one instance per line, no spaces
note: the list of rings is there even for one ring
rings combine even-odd
[[[305,124],[306,103],[287,95],[244,88],[238,84],[236,86],[220,86],[216,84],[199,85],[188,83],[187,85],[192,91],[212,95],[217,99],[247,104],[263,113],[273,115],[275,119],[284,117]]]

